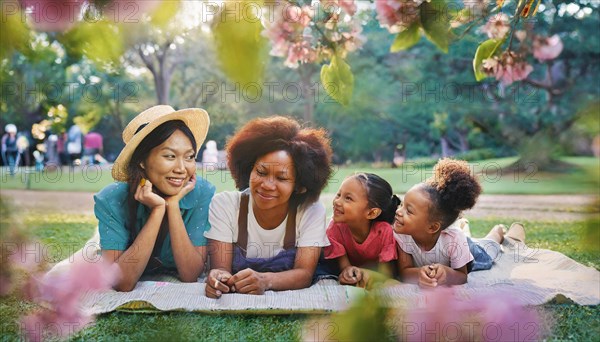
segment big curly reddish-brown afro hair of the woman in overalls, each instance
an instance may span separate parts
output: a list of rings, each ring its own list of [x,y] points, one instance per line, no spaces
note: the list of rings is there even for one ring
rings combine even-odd
[[[258,118],[244,125],[228,142],[227,166],[238,190],[250,186],[250,173],[260,157],[286,151],[294,161],[296,190],[290,201],[296,205],[319,199],[332,174],[331,146],[323,129],[302,128],[283,116]]]

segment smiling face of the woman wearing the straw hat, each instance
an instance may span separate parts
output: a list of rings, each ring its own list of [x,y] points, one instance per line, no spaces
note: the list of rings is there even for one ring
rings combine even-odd
[[[165,196],[179,193],[196,173],[196,151],[180,130],[156,146],[142,164],[146,177]]]

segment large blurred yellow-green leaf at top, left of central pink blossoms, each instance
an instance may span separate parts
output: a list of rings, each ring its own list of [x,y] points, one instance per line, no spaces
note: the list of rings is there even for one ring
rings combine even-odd
[[[228,0],[214,18],[213,34],[223,71],[242,87],[260,81],[263,74],[267,42],[261,35],[260,18],[250,10],[261,5],[262,1],[246,0],[236,6],[236,1]]]

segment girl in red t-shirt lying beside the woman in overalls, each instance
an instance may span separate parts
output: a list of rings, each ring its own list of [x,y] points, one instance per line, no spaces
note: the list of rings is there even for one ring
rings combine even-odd
[[[364,281],[363,268],[397,260],[391,223],[400,199],[383,178],[358,173],[344,180],[333,200],[326,259],[337,259],[341,284]]]

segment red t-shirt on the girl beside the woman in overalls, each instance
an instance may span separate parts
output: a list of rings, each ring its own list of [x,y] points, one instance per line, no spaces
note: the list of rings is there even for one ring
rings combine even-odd
[[[325,247],[326,259],[339,258],[345,254],[350,263],[358,267],[398,259],[394,231],[387,222],[375,222],[365,241],[358,243],[354,241],[347,224],[331,221],[327,227],[327,238],[331,245]]]

